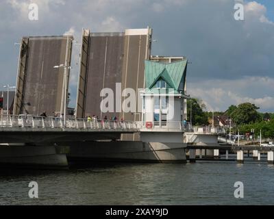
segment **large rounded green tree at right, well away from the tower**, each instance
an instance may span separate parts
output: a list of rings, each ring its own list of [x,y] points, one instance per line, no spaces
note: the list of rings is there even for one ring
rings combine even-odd
[[[238,125],[255,123],[260,120],[258,109],[260,108],[252,103],[241,103],[237,109],[232,112],[232,120]]]

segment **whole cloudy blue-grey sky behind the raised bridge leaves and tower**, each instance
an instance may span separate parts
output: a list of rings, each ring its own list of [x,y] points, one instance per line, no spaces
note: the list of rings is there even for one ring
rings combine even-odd
[[[38,21],[28,18],[38,5]],[[234,18],[244,5],[244,21]],[[260,112],[274,112],[273,0],[1,0],[0,90],[16,83],[23,36],[153,29],[152,55],[186,56],[187,88],[208,111],[251,102]],[[75,106],[79,44],[73,45],[70,92]]]

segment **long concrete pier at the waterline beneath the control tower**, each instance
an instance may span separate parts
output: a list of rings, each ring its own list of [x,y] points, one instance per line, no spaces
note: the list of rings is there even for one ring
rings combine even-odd
[[[174,142],[101,141],[65,145],[69,162],[186,163],[185,146]]]

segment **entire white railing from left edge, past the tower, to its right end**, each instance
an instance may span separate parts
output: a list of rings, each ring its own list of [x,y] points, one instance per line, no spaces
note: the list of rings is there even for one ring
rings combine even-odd
[[[222,127],[192,127],[191,123],[181,121],[120,121],[86,118],[42,117],[33,115],[0,114],[0,127],[32,127],[32,128],[73,128],[73,129],[138,129],[155,131],[184,131],[193,133],[225,133]]]

